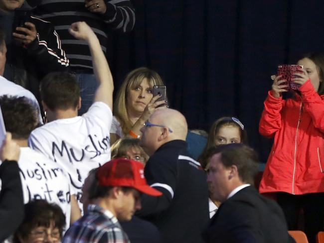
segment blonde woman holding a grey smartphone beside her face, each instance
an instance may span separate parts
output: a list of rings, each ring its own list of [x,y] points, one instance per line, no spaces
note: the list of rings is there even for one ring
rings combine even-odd
[[[139,138],[144,122],[166,105],[166,89],[157,72],[146,67],[129,72],[114,102],[110,143],[124,136]]]

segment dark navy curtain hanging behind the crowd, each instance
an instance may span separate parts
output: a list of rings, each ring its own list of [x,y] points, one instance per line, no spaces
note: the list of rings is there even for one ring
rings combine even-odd
[[[222,116],[245,125],[265,162],[272,141],[258,133],[278,64],[324,52],[323,0],[133,0],[131,33],[111,33],[108,60],[117,90],[131,69],[148,66],[166,84],[189,128]]]

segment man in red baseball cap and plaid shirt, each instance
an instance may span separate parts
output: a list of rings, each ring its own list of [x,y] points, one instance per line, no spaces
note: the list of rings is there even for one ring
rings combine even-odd
[[[87,195],[92,204],[66,232],[63,243],[128,243],[119,221],[131,220],[135,211],[141,209],[141,193],[162,193],[147,184],[143,164],[134,160],[113,159],[95,173]]]

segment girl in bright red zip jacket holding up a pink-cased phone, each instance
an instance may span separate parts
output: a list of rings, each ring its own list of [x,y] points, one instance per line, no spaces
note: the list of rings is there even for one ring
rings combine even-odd
[[[324,219],[324,55],[310,54],[298,61],[301,85],[284,100],[288,85],[277,76],[264,102],[259,131],[274,137],[260,183],[260,193],[276,192],[289,230],[296,230],[301,208],[305,232],[315,242]]]

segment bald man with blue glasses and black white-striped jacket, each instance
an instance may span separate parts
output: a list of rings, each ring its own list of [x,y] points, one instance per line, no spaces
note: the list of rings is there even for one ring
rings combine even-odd
[[[172,109],[159,110],[141,132],[140,144],[150,155],[145,177],[163,195],[144,195],[138,216],[154,223],[165,243],[202,243],[209,219],[208,187],[200,164],[186,150],[184,116]]]

